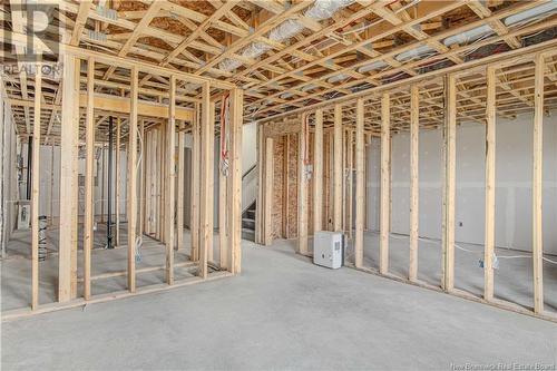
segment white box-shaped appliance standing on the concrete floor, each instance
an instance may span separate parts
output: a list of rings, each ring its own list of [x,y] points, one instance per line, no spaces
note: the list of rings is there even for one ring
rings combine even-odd
[[[333,270],[344,265],[344,235],[319,231],[313,235],[313,263]]]

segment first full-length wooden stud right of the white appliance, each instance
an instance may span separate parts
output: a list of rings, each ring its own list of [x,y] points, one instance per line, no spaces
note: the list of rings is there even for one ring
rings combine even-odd
[[[362,202],[365,192],[365,143],[363,138],[363,98],[356,100],[356,121],[355,121],[355,241],[354,241],[354,265],[363,266],[363,224],[364,206]]]

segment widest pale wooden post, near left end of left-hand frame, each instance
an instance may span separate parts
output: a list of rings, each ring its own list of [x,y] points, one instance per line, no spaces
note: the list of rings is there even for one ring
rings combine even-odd
[[[63,53],[62,118],[60,157],[60,243],[58,263],[58,301],[69,302],[77,294],[77,146],[79,110],[79,60]]]

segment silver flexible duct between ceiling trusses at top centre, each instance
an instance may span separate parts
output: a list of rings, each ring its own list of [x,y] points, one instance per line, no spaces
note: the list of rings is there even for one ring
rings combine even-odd
[[[316,0],[312,7],[305,10],[304,17],[314,21],[329,19],[338,10],[350,6],[352,2],[354,2],[354,0]],[[272,29],[267,38],[272,41],[284,42],[302,32],[304,26],[301,22],[289,19]],[[245,47],[240,55],[242,57],[255,59],[271,49],[272,47],[265,42],[252,42]],[[218,68],[225,71],[232,71],[240,66],[242,66],[240,60],[227,58],[218,65]]]

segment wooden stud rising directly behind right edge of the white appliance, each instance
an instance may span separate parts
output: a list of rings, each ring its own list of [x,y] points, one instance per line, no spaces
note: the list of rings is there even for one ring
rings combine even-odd
[[[342,106],[334,106],[333,231],[342,231]]]

